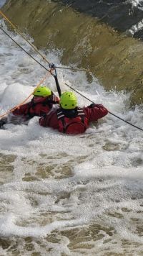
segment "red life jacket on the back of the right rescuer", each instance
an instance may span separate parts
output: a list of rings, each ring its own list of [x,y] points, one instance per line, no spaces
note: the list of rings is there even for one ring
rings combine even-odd
[[[88,128],[88,119],[84,114],[83,109],[76,108],[74,117],[68,116],[64,113],[63,109],[56,110],[57,119],[59,120],[59,132],[67,134],[81,134]]]

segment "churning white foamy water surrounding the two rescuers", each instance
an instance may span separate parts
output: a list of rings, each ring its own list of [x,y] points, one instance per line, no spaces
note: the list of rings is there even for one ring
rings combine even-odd
[[[6,29],[6,27],[4,27]],[[10,33],[10,32],[9,32]],[[24,40],[14,39],[26,50]],[[0,113],[19,104],[45,70],[0,31]],[[32,55],[43,62],[33,50]],[[46,57],[60,64],[61,52]],[[124,92],[104,91],[85,73],[57,70],[92,101],[143,128],[142,106]],[[52,77],[46,78],[56,93]],[[68,89],[69,90],[69,89]],[[79,106],[90,104],[77,94]],[[0,129],[1,255],[132,255],[143,252],[143,132],[108,114],[86,134],[39,126],[38,117]]]

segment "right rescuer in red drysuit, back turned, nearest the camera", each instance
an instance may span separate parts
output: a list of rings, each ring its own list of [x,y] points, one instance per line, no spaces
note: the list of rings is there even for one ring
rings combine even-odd
[[[102,104],[91,104],[79,108],[77,98],[71,91],[62,93],[60,107],[39,119],[39,124],[44,127],[59,129],[67,134],[81,134],[89,127],[90,122],[106,116],[108,110]]]

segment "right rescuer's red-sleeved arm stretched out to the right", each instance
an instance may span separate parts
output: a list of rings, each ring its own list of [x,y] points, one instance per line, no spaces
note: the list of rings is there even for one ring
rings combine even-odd
[[[84,107],[84,113],[89,119],[89,122],[94,122],[103,116],[106,116],[108,114],[108,110],[102,104],[91,104]]]

